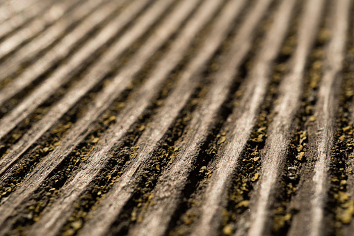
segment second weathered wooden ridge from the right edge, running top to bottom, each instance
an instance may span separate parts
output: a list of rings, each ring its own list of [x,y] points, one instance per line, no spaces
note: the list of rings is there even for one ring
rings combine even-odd
[[[289,74],[280,84],[279,103],[275,106],[275,117],[268,128],[266,155],[262,162],[261,181],[255,199],[255,210],[251,214],[249,235],[261,235],[268,224],[268,207],[273,203],[277,179],[280,178],[287,148],[293,135],[293,120],[300,108],[301,92],[304,84],[304,71],[319,28],[324,1],[307,1],[302,22],[299,26],[298,45],[291,58]],[[252,209],[252,208],[251,208]],[[269,230],[269,228],[268,228]]]

